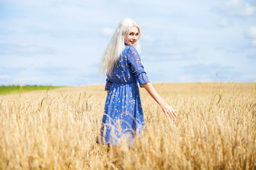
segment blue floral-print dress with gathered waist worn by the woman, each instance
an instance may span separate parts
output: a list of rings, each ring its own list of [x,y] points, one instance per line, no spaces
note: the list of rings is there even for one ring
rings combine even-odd
[[[122,55],[107,77],[105,90],[109,90],[105,103],[100,141],[103,145],[117,145],[124,137],[129,146],[134,135],[144,130],[142,103],[139,87],[149,82],[137,50],[125,45]]]

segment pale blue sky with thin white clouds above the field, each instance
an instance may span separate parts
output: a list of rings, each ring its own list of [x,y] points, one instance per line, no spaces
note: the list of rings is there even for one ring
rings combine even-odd
[[[0,85],[105,84],[123,18],[142,30],[153,83],[256,81],[255,0],[0,0]]]

